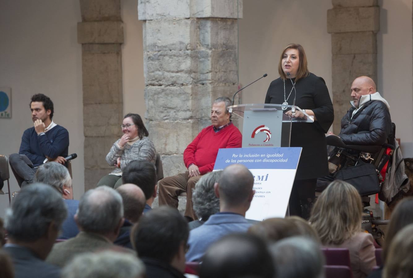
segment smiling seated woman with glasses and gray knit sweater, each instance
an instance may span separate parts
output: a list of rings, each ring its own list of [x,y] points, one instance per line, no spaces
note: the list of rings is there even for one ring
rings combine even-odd
[[[117,188],[122,185],[122,170],[132,160],[146,160],[155,164],[156,150],[152,141],[147,137],[148,131],[143,125],[140,115],[129,113],[123,117],[121,124],[123,135],[110,148],[106,155],[109,165],[116,168],[112,173],[102,177],[97,186],[107,185]]]

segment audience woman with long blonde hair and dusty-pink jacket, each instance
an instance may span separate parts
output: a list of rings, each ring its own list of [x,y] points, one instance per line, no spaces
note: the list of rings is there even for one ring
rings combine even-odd
[[[373,236],[361,230],[362,210],[357,189],[335,180],[318,197],[310,217],[323,246],[349,249],[354,278],[366,277],[376,265]]]

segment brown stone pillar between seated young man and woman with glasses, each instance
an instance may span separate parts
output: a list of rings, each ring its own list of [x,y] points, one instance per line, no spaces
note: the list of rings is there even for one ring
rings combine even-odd
[[[80,0],[85,191],[111,172],[106,160],[123,119],[120,0]]]

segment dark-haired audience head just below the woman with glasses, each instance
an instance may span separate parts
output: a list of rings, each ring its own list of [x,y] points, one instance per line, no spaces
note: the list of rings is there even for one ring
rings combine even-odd
[[[132,160],[122,171],[122,184],[136,184],[146,200],[156,197],[157,175],[155,166],[149,161]]]

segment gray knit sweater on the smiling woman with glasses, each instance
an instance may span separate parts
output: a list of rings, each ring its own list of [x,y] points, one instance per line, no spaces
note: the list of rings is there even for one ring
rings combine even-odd
[[[146,160],[152,162],[155,165],[156,162],[156,149],[152,141],[148,137],[142,137],[142,139],[136,141],[132,145],[125,144],[123,148],[119,148],[118,139],[110,148],[109,153],[106,155],[106,161],[109,165],[115,165],[118,157],[121,158],[121,167],[116,167],[111,174],[121,174],[126,165],[132,160]]]

